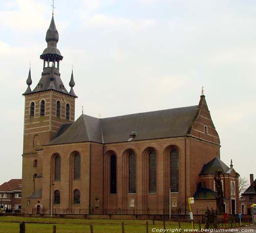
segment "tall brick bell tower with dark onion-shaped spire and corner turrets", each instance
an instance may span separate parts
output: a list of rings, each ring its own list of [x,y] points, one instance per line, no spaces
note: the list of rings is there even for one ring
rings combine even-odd
[[[23,144],[23,203],[35,188],[35,177],[42,176],[42,146],[56,137],[60,127],[75,120],[75,86],[73,70],[67,91],[60,79],[60,61],[63,59],[57,48],[59,40],[54,16],[46,33],[47,48],[40,55],[43,61],[41,79],[31,90],[31,70],[27,79],[24,114]]]

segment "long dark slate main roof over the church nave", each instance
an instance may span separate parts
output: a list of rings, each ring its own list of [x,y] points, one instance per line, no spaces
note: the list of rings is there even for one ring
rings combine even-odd
[[[190,106],[102,119],[81,115],[72,125],[63,125],[48,145],[126,142],[132,131],[137,133],[132,141],[186,136],[197,109]]]

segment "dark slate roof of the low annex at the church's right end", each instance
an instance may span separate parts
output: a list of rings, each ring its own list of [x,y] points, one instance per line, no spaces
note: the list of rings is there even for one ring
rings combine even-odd
[[[200,175],[215,174],[217,170],[222,171],[222,173],[230,173],[231,169],[216,157],[207,164],[204,164]]]

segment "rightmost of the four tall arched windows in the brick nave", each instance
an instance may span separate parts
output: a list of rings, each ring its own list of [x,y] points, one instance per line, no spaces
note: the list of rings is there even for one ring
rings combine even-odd
[[[179,153],[170,151],[170,187],[171,192],[179,192]]]

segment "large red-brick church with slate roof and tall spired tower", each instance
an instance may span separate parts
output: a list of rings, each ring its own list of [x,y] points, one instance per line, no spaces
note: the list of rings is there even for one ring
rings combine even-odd
[[[242,211],[239,174],[220,160],[220,139],[202,93],[195,106],[75,120],[73,70],[60,78],[54,17],[40,55],[41,79],[25,97],[24,213],[188,214],[216,209],[214,173],[222,171],[224,211]],[[116,106],[113,106],[113,108]]]

